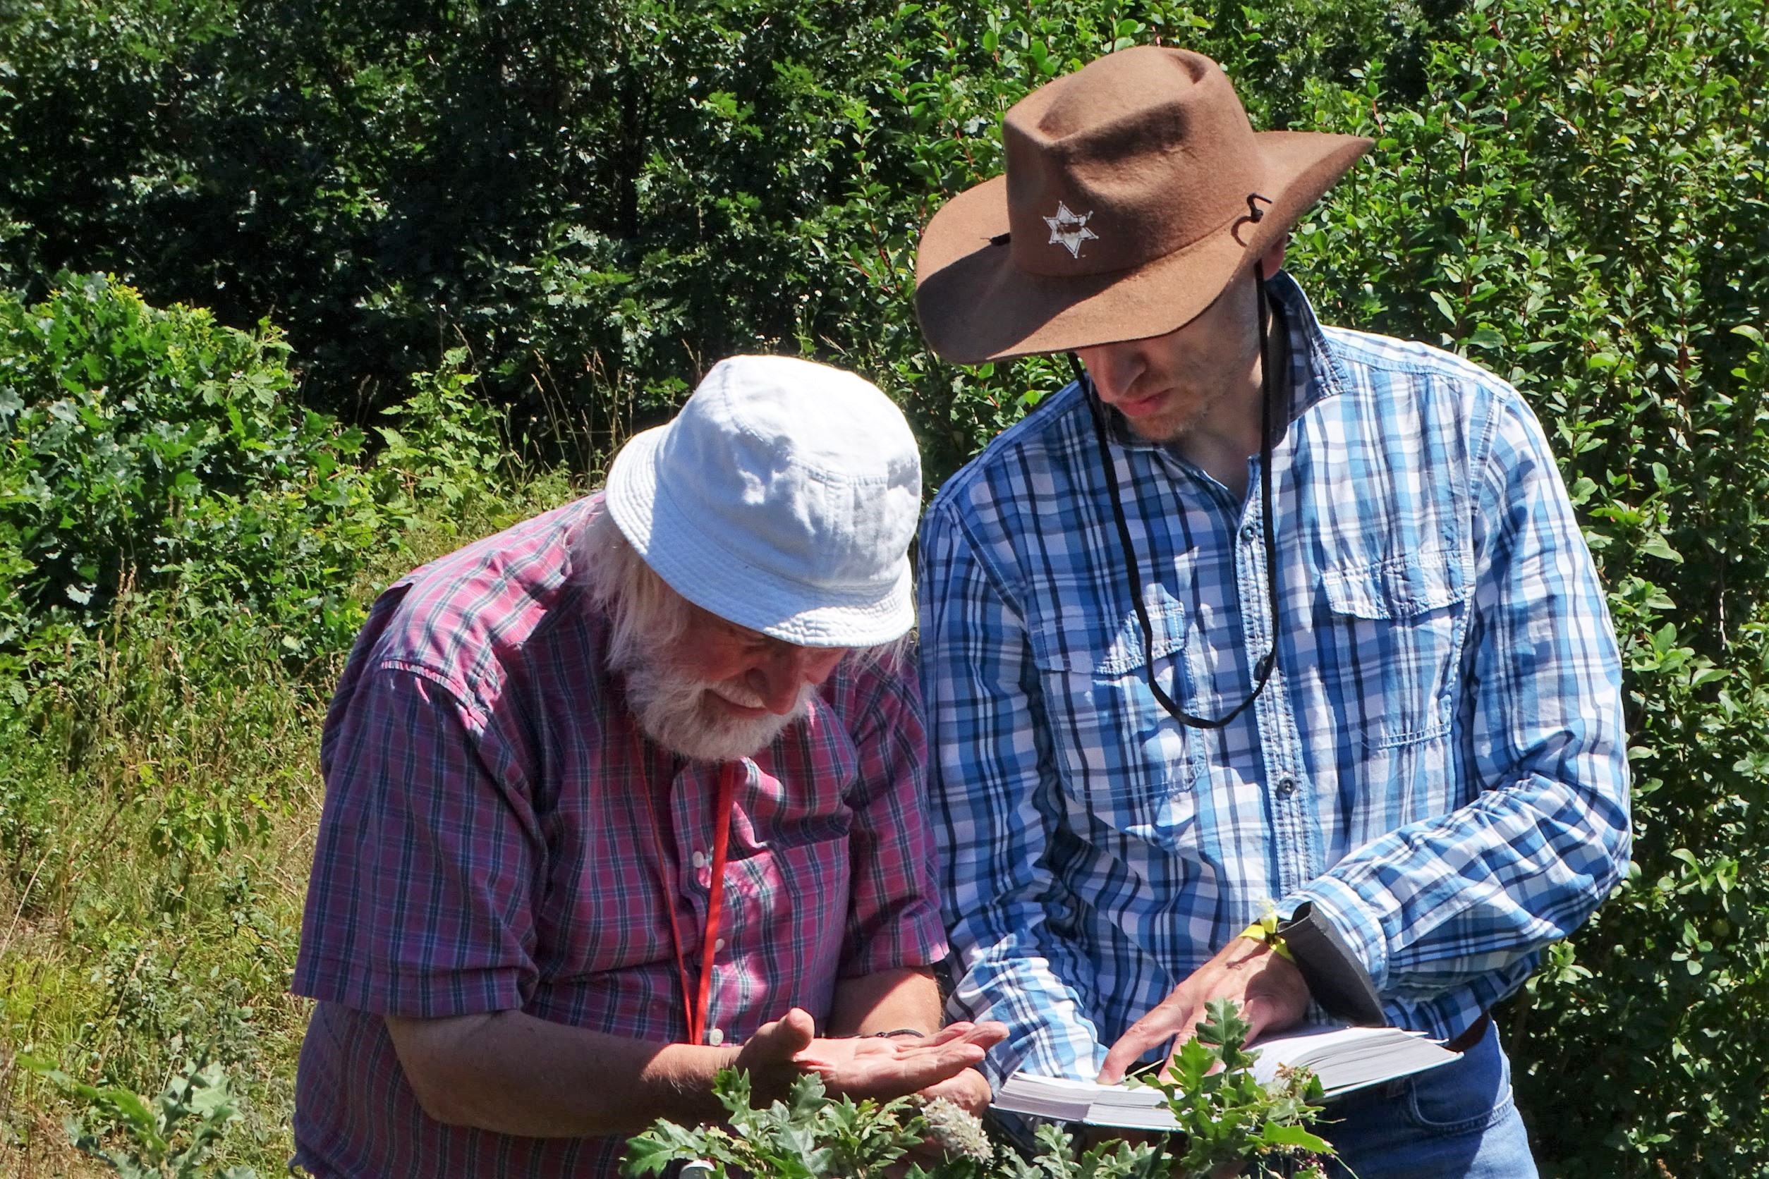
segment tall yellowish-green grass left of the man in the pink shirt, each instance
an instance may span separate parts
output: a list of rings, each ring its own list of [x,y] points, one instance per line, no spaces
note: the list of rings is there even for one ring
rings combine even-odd
[[[354,592],[573,493],[552,474],[435,497]],[[257,619],[126,585],[0,704],[0,1174],[104,1174],[60,1122],[115,1131],[19,1053],[142,1094],[207,1053],[242,1096],[214,1163],[283,1172],[308,1015],[287,985],[343,652],[290,666],[278,650]]]

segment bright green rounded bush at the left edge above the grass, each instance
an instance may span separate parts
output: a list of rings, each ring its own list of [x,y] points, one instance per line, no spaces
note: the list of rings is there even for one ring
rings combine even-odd
[[[294,403],[287,352],[104,276],[0,297],[0,642],[103,619],[126,585],[260,615],[297,654],[348,642],[341,589],[377,543],[361,437]]]

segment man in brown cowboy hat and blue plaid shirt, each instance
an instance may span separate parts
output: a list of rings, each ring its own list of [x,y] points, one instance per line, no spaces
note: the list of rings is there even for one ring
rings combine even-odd
[[[1463,1059],[1346,1098],[1362,1179],[1532,1175],[1488,1009],[1627,859],[1620,666],[1505,382],[1321,327],[1290,226],[1369,147],[1254,133],[1215,62],[1136,48],[1007,113],[929,224],[961,362],[1077,380],[941,488],[923,686],[991,1064],[1113,1082],[1205,1002],[1392,1022]]]

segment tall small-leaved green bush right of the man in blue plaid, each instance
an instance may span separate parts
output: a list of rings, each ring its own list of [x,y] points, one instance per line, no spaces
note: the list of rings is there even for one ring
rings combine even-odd
[[[1626,661],[1635,866],[1505,1013],[1566,1175],[1769,1167],[1769,28],[1753,4],[1482,0],[1297,235],[1330,318],[1467,352],[1548,426]]]

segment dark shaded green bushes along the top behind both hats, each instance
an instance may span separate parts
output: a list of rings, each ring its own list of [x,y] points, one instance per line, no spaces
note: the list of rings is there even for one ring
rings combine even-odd
[[[0,279],[110,269],[235,327],[274,313],[308,403],[359,424],[463,345],[586,461],[720,355],[816,352],[904,396],[945,477],[1024,387],[920,357],[909,262],[938,202],[998,166],[1008,103],[1169,37],[1293,108],[1410,19],[1378,0],[27,0],[0,25],[0,152],[27,164],[0,182]]]

